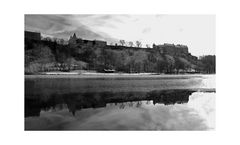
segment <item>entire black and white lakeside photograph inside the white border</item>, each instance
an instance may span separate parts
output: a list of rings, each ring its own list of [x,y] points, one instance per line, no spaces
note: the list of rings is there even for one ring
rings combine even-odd
[[[215,130],[215,19],[24,14],[24,130]]]

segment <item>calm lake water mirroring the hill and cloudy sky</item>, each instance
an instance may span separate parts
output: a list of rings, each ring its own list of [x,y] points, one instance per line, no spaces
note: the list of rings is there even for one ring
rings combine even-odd
[[[214,75],[25,78],[25,130],[214,128]]]

